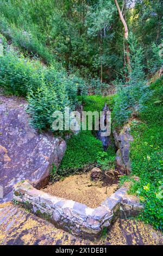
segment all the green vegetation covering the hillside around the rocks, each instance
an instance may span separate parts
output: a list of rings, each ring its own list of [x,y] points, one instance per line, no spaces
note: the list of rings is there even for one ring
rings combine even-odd
[[[129,193],[145,204],[139,217],[162,230],[162,1],[118,3],[127,38],[114,0],[0,0],[1,93],[25,97],[30,123],[54,136],[68,132],[53,130],[53,112],[81,103],[98,112],[107,103],[112,130],[133,120],[131,174],[121,184],[132,181]],[[60,176],[115,167],[115,148],[104,152],[95,131],[68,135]]]

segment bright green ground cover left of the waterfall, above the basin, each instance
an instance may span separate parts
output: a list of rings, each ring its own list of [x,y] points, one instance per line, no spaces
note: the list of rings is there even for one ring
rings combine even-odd
[[[113,106],[114,96],[99,95],[78,96],[84,111],[102,111],[105,102],[110,108]],[[61,176],[83,171],[93,165],[108,170],[115,167],[115,149],[111,146],[103,151],[102,143],[93,136],[93,131],[81,131],[67,141],[67,150],[58,173]]]

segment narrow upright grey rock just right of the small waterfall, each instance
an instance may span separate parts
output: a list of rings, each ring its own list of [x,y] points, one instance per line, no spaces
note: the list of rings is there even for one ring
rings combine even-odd
[[[129,148],[130,142],[133,141],[133,137],[129,133],[129,125],[124,126],[120,133],[113,131],[115,145],[117,150],[116,153],[116,169],[123,174],[130,174],[130,159],[129,159]]]

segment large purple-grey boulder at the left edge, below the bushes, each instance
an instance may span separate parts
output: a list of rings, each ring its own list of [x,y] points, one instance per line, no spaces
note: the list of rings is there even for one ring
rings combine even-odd
[[[18,181],[45,186],[52,163],[58,167],[66,150],[64,140],[39,134],[29,125],[26,108],[21,98],[0,96],[0,203],[12,199],[12,186]]]

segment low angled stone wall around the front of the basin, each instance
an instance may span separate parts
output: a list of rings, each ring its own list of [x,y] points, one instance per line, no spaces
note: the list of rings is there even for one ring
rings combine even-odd
[[[136,216],[143,209],[138,198],[128,196],[125,187],[95,209],[36,190],[28,181],[16,184],[13,193],[15,200],[35,214],[48,218],[59,228],[89,239],[99,237],[104,228],[111,228],[117,217]]]

